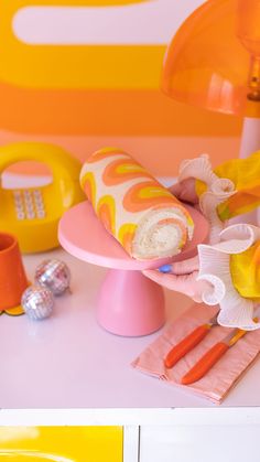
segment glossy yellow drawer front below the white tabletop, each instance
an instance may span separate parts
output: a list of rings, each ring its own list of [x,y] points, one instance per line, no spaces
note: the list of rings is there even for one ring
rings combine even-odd
[[[122,427],[0,427],[0,462],[122,462]]]

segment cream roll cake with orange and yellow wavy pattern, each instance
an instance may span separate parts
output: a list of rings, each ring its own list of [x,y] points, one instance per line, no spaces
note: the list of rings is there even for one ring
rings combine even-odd
[[[82,168],[80,185],[106,229],[136,259],[172,257],[192,239],[185,207],[120,149],[94,152]]]

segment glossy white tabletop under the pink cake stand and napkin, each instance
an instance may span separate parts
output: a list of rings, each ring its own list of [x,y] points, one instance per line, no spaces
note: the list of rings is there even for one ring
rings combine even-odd
[[[58,249],[24,257],[31,280],[35,267],[51,257],[61,258],[71,267],[73,294],[56,299],[54,315],[45,321],[33,322],[25,315],[0,316],[2,409],[216,407],[130,366],[160,332],[120,337],[97,324],[95,305],[105,269]],[[171,318],[189,304],[187,298],[166,291]],[[260,406],[259,377],[258,359],[220,407]]]

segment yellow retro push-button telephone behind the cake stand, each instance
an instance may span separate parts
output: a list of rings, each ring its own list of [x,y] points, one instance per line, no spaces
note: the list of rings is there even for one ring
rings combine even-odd
[[[52,183],[40,187],[8,190],[2,173],[22,161],[42,162]],[[79,186],[80,162],[63,148],[42,142],[15,142],[0,147],[0,230],[14,234],[23,253],[58,246],[57,225],[66,209],[84,201]]]

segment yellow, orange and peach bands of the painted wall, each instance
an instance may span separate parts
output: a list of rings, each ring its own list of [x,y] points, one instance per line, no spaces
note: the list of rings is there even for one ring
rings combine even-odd
[[[145,30],[150,34],[158,28],[163,34],[166,25],[174,31],[184,19],[181,12],[188,14],[197,6],[193,0],[186,11],[186,3],[177,0],[169,2],[166,10],[165,0],[76,0],[73,4],[99,6],[109,15],[111,4],[123,12],[129,3],[137,14],[156,10],[154,24],[145,22],[144,35]],[[11,26],[17,12],[30,6],[69,7],[72,1],[0,0],[0,6],[4,43],[0,50],[0,144],[46,140],[82,160],[100,147],[118,146],[160,175],[175,174],[182,159],[201,152],[208,152],[214,164],[237,157],[240,119],[178,104],[160,90],[167,40],[141,45],[133,34],[128,45],[120,43],[120,36],[116,45],[29,45],[18,40]],[[31,28],[35,29],[33,22]],[[26,165],[23,171],[37,170]]]

